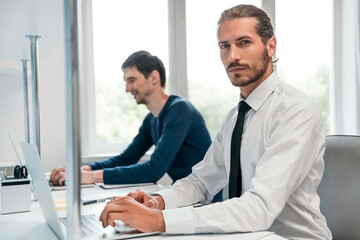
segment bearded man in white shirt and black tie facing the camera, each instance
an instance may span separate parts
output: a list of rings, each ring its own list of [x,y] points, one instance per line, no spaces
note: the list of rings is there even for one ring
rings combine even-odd
[[[239,162],[241,196],[207,204],[229,183],[237,107],[192,174],[148,195],[117,197],[100,220],[114,219],[143,232],[226,233],[275,231],[289,239],[331,239],[317,187],[323,175],[325,131],[308,98],[281,82],[273,69],[276,38],[264,11],[251,5],[225,10],[218,22],[221,60],[240,88],[245,114]],[[178,208],[182,207],[182,208]]]

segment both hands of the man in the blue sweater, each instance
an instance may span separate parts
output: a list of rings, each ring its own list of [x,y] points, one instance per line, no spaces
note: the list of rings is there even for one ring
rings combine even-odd
[[[50,181],[54,185],[62,186],[66,180],[66,168],[65,166],[56,168],[50,175]],[[103,170],[91,171],[89,165],[81,167],[81,184],[92,184],[95,182],[104,182]]]

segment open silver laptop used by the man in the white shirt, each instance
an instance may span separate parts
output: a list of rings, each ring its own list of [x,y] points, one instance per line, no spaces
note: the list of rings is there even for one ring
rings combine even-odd
[[[60,239],[64,239],[66,236],[66,219],[59,219],[58,217],[54,200],[40,163],[38,151],[34,145],[25,142],[21,142],[21,149],[25,156],[26,167],[31,175],[43,216],[52,231]],[[81,216],[82,239],[128,239],[159,233],[142,233],[128,225],[125,225],[122,221],[117,221],[117,226],[115,226],[115,228],[109,226],[104,229],[102,228],[101,222],[98,218],[99,216],[96,216],[95,214]],[[86,230],[94,232],[89,233]]]

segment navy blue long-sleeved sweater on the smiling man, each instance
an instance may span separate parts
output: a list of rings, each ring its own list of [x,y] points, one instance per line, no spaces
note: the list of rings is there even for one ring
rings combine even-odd
[[[155,144],[150,160],[138,163]],[[191,173],[211,144],[200,112],[186,99],[171,95],[155,118],[149,113],[138,135],[120,155],[91,164],[104,169],[105,184],[157,182],[166,172],[176,181]]]

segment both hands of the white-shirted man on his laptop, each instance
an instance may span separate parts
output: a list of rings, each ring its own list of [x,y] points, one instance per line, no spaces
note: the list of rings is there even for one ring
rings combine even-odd
[[[162,209],[164,200],[160,195],[154,197],[136,190],[126,197],[115,197],[108,202],[100,215],[100,221],[103,227],[114,227],[114,220],[122,220],[141,232],[165,232]]]

